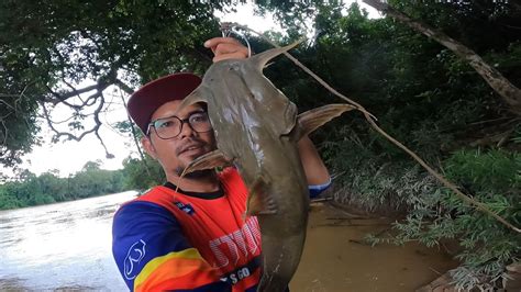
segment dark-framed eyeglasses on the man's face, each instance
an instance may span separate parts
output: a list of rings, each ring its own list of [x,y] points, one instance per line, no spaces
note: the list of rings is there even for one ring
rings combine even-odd
[[[182,125],[187,123],[191,130],[197,133],[204,133],[212,130],[210,119],[206,112],[193,112],[187,119],[181,120],[175,115],[168,117],[157,119],[148,124],[146,135],[151,134],[151,127],[154,127],[157,136],[162,139],[170,139],[177,137],[181,131]]]

